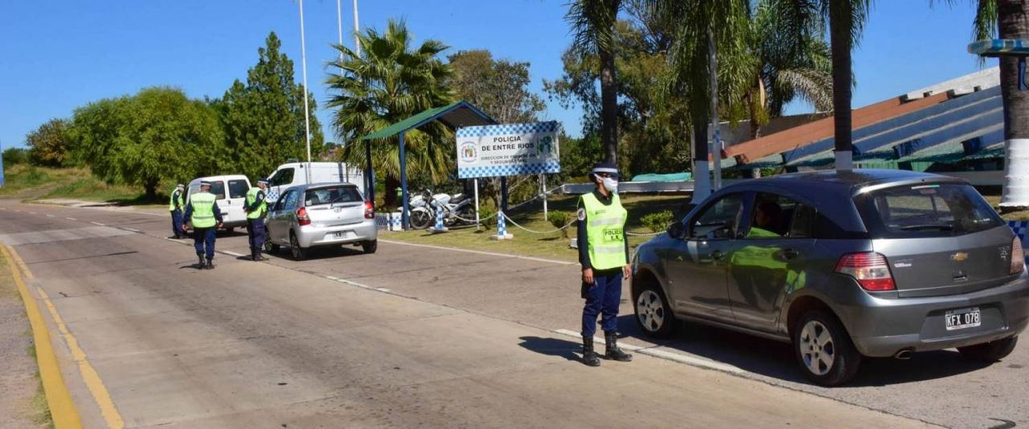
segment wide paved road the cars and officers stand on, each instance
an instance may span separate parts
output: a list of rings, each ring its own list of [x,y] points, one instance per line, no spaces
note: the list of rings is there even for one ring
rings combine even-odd
[[[588,368],[573,362],[577,339],[556,332],[578,330],[574,264],[381,242],[375,255],[306,261],[221,254],[199,272],[191,246],[165,239],[169,223],[159,211],[0,202],[0,240],[129,426],[1029,425],[1025,345],[988,367],[955,351],[872,360],[850,386],[822,389],[778,343],[699,326],[650,343],[624,299],[625,343],[671,360]],[[244,235],[218,245],[247,253]],[[92,401],[84,386],[73,395]]]

